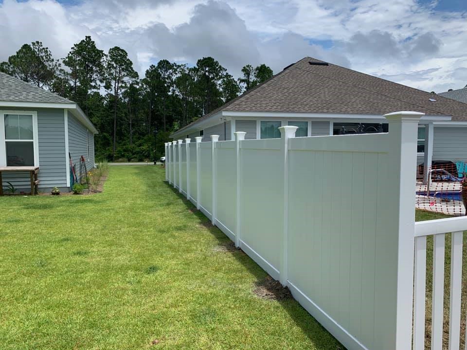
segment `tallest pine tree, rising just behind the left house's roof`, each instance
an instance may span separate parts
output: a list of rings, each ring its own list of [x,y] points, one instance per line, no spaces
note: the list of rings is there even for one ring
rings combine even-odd
[[[74,44],[63,64],[70,69],[74,101],[88,114],[88,96],[104,79],[105,53],[96,47],[90,36]]]

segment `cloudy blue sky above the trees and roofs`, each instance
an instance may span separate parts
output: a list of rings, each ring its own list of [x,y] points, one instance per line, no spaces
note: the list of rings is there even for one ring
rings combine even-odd
[[[234,76],[305,56],[427,91],[467,84],[466,0],[0,0],[0,60],[24,43],[56,58],[91,35],[144,75],[213,56]]]

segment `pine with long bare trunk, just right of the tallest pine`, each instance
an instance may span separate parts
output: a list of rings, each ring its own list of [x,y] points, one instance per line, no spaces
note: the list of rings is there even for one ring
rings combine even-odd
[[[128,58],[125,50],[115,46],[108,51],[108,57],[105,65],[106,70],[106,88],[113,92],[113,148],[112,153],[115,158],[117,147],[117,105],[122,90],[128,87],[128,84],[138,79],[138,73],[133,69],[133,62]]]

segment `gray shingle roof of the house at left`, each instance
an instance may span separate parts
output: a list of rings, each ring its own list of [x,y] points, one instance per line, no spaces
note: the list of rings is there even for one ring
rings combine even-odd
[[[2,72],[0,72],[0,101],[74,103]]]

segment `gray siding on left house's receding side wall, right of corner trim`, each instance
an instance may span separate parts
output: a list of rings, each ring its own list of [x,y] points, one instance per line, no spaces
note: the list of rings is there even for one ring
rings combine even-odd
[[[88,136],[90,142],[89,158],[88,158]],[[72,163],[75,165],[76,176],[79,178],[80,166],[79,159],[84,156],[86,159],[86,167],[88,171],[94,167],[94,137],[91,137],[90,132],[83,124],[81,124],[71,113],[68,113],[68,144]],[[92,146],[91,146],[92,144]]]

